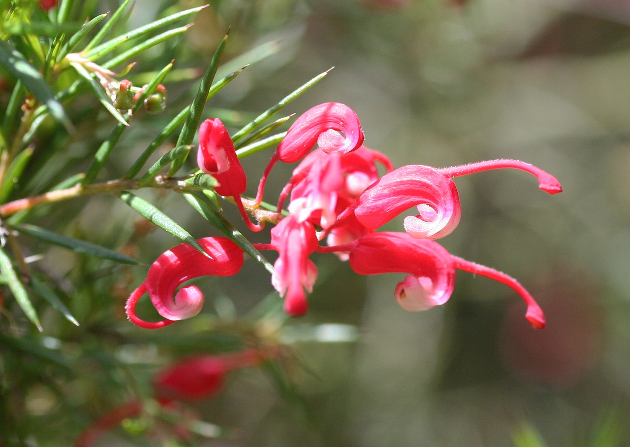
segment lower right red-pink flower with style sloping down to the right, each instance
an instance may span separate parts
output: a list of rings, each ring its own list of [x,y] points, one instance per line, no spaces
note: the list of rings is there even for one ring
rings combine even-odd
[[[512,287],[527,304],[525,318],[534,328],[545,327],[545,317],[534,298],[505,273],[451,255],[437,242],[415,239],[406,233],[370,233],[350,252],[350,267],[362,275],[409,273],[394,296],[404,309],[427,310],[444,304],[455,283],[455,269],[486,276]]]

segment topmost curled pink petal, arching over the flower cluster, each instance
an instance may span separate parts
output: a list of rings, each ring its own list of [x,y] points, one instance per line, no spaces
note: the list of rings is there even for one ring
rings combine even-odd
[[[295,120],[276,154],[285,163],[306,156],[317,143],[326,153],[347,154],[363,144],[357,114],[342,103],[328,102],[310,108]]]

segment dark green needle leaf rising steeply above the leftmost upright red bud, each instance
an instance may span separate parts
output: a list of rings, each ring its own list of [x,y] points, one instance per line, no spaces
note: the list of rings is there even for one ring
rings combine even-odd
[[[197,127],[199,127],[199,122],[201,120],[203,106],[205,105],[206,98],[208,97],[208,94],[210,92],[210,87],[212,86],[214,75],[215,73],[217,73],[217,67],[219,67],[221,55],[223,54],[223,50],[226,47],[228,35],[229,30],[222,38],[219,46],[217,46],[217,50],[214,52],[214,55],[210,60],[210,65],[205,71],[202,81],[199,84],[197,95],[195,95],[195,99],[193,99],[193,102],[190,105],[190,113],[188,113],[188,117],[186,117],[186,121],[184,122],[184,125],[181,129],[180,137],[177,140],[176,146],[191,144],[193,142],[193,139],[195,138],[195,133],[197,132]],[[171,166],[171,170],[169,171],[169,175],[173,175],[176,171],[178,171],[179,168],[181,168],[181,165],[183,165],[184,160],[185,158],[180,158],[180,160],[174,161],[173,165]]]

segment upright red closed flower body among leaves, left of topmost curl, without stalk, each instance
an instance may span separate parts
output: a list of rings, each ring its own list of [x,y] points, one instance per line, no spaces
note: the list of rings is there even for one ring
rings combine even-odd
[[[199,168],[217,179],[218,194],[228,197],[245,192],[247,178],[226,127],[218,118],[209,118],[199,127]]]

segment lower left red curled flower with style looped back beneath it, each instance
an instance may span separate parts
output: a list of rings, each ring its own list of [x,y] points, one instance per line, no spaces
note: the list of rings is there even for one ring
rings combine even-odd
[[[183,282],[199,276],[232,276],[241,269],[243,250],[231,240],[210,237],[198,239],[197,242],[210,257],[183,243],[164,252],[149,267],[146,281],[127,300],[125,309],[131,322],[143,328],[155,329],[195,316],[203,305],[202,292],[197,286],[181,287],[179,291],[177,288]],[[135,315],[135,305],[146,292],[157,313],[165,320],[146,322]]]

